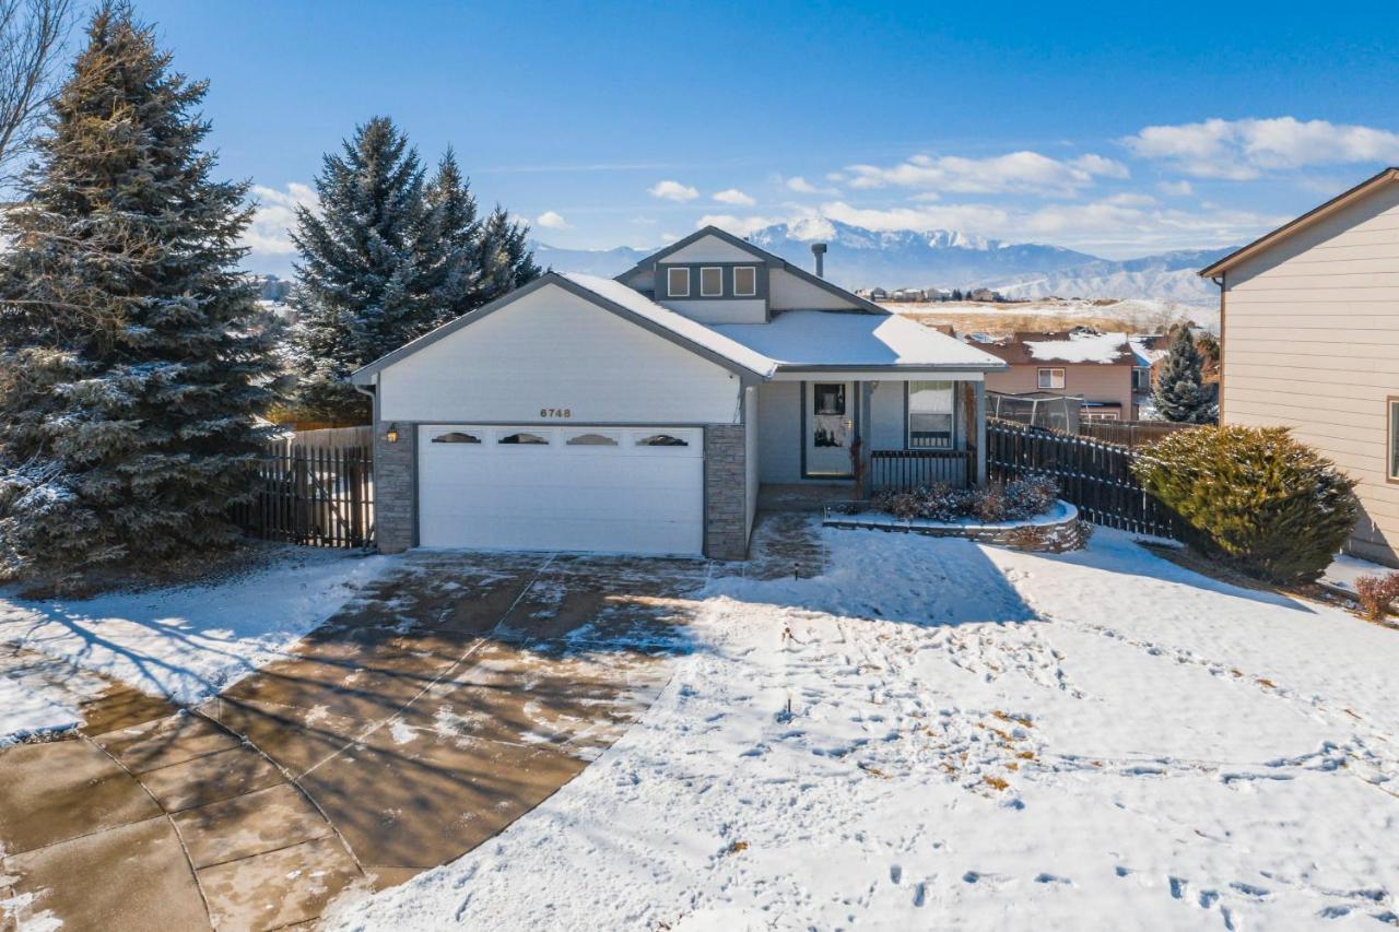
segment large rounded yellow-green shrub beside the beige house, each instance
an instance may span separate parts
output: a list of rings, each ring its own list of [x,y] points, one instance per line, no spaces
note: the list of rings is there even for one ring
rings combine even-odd
[[[1273,582],[1321,575],[1360,514],[1354,483],[1281,427],[1181,431],[1133,472],[1185,519],[1188,543]]]

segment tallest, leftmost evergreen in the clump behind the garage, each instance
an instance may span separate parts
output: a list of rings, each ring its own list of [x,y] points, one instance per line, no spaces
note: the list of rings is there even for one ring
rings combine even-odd
[[[452,269],[417,151],[390,119],[327,154],[316,193],[322,216],[298,209],[292,234],[297,403],[311,417],[365,423],[367,400],[346,376],[436,326]]]

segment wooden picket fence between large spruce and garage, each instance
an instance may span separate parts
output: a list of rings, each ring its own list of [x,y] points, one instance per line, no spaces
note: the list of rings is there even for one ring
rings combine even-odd
[[[364,442],[304,444],[299,438],[267,444],[257,463],[259,491],[235,508],[235,521],[264,540],[312,547],[372,546],[374,446],[368,428]]]

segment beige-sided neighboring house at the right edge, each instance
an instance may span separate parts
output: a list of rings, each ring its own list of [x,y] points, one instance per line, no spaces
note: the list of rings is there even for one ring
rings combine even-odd
[[[1220,287],[1220,421],[1335,460],[1364,512],[1347,550],[1399,565],[1399,168],[1200,274]]]

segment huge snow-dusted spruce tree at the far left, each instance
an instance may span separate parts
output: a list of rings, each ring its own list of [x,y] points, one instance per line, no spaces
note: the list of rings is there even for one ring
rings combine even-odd
[[[0,577],[70,585],[235,540],[276,388],[207,83],[125,3],[87,38],[0,218]]]

